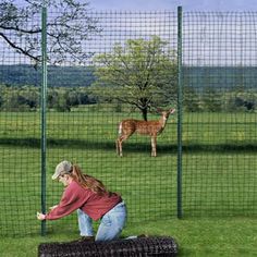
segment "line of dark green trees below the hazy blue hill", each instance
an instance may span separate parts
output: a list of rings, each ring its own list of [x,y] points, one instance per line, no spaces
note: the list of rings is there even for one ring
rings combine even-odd
[[[122,111],[123,102],[117,99],[99,98],[90,87],[50,87],[47,93],[47,108],[69,112],[73,108],[87,105],[110,103],[117,112]],[[114,94],[114,93],[113,93]],[[183,109],[187,112],[234,112],[255,111],[257,93],[231,88],[227,91],[206,87],[197,91],[184,87]],[[1,111],[38,111],[40,108],[40,88],[35,86],[0,85]],[[133,110],[133,107],[131,108]],[[135,110],[135,109],[134,109]]]

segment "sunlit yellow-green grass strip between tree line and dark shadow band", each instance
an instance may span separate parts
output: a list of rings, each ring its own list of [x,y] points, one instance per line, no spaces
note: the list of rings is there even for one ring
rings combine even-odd
[[[118,123],[125,118],[142,119],[134,113],[101,112],[49,112],[47,114],[47,135],[50,143],[61,144],[69,140],[72,145],[103,142],[113,143]],[[159,119],[149,114],[149,120]],[[199,146],[255,146],[257,145],[256,113],[185,113],[183,115],[183,143],[186,147]],[[14,138],[39,145],[39,112],[0,112],[0,143]],[[133,136],[130,142],[146,143],[142,136]],[[176,144],[174,117],[168,121],[166,133],[159,137],[159,145]],[[14,142],[12,142],[14,144]],[[24,143],[24,142],[23,142]],[[231,149],[231,148],[230,148]],[[256,148],[255,148],[256,149]]]

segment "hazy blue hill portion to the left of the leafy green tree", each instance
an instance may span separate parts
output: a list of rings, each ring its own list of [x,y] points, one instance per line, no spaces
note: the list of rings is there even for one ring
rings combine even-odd
[[[10,86],[40,85],[40,68],[0,65],[0,84]],[[48,66],[48,86],[89,86],[95,81],[91,66]]]

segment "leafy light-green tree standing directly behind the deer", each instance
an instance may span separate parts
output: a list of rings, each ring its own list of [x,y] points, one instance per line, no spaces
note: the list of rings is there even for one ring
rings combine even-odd
[[[111,52],[94,59],[98,100],[128,103],[140,110],[144,120],[150,108],[171,105],[176,98],[176,56],[167,41],[128,39]]]

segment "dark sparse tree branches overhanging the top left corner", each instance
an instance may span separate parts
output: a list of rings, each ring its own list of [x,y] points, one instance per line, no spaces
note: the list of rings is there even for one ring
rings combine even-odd
[[[83,62],[91,56],[83,44],[98,33],[97,21],[88,15],[88,3],[79,0],[2,0],[0,3],[0,38],[15,51],[37,64],[40,61],[40,8],[42,2],[52,15],[48,15],[49,62],[64,60]],[[35,22],[36,21],[36,22]],[[83,22],[82,22],[83,21]]]

